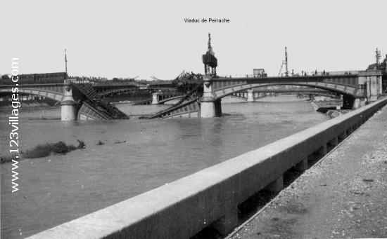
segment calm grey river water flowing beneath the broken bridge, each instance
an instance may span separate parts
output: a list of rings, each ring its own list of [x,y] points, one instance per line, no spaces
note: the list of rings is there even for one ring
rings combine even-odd
[[[118,104],[127,114],[167,105]],[[19,148],[58,142],[86,149],[20,161],[11,193],[11,163],[1,167],[1,238],[25,238],[329,119],[294,96],[222,101],[220,118],[61,122],[60,107],[20,109]],[[1,155],[9,150],[0,111]],[[103,145],[96,145],[97,142]]]

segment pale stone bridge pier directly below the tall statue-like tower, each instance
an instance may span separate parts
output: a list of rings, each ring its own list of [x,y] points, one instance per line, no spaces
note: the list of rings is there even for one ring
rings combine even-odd
[[[201,118],[212,118],[222,115],[222,104],[215,100],[212,93],[212,81],[210,75],[203,76],[204,88],[203,97],[201,98]]]

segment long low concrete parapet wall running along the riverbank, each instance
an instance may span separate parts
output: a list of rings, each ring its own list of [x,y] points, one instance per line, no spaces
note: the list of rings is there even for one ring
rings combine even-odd
[[[281,189],[286,170],[306,169],[308,155],[326,153],[327,144],[336,145],[385,104],[379,100],[30,238],[189,238],[210,224],[227,233],[239,204],[267,186]]]

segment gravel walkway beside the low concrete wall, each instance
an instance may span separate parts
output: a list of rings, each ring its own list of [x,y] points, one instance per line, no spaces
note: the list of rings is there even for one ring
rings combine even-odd
[[[228,238],[387,238],[387,108]]]

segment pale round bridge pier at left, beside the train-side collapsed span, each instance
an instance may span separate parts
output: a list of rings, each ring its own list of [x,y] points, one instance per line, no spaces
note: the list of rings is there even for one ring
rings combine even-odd
[[[61,102],[61,120],[76,121],[77,120],[77,105],[72,97],[72,88],[70,80],[64,81],[63,100]]]

